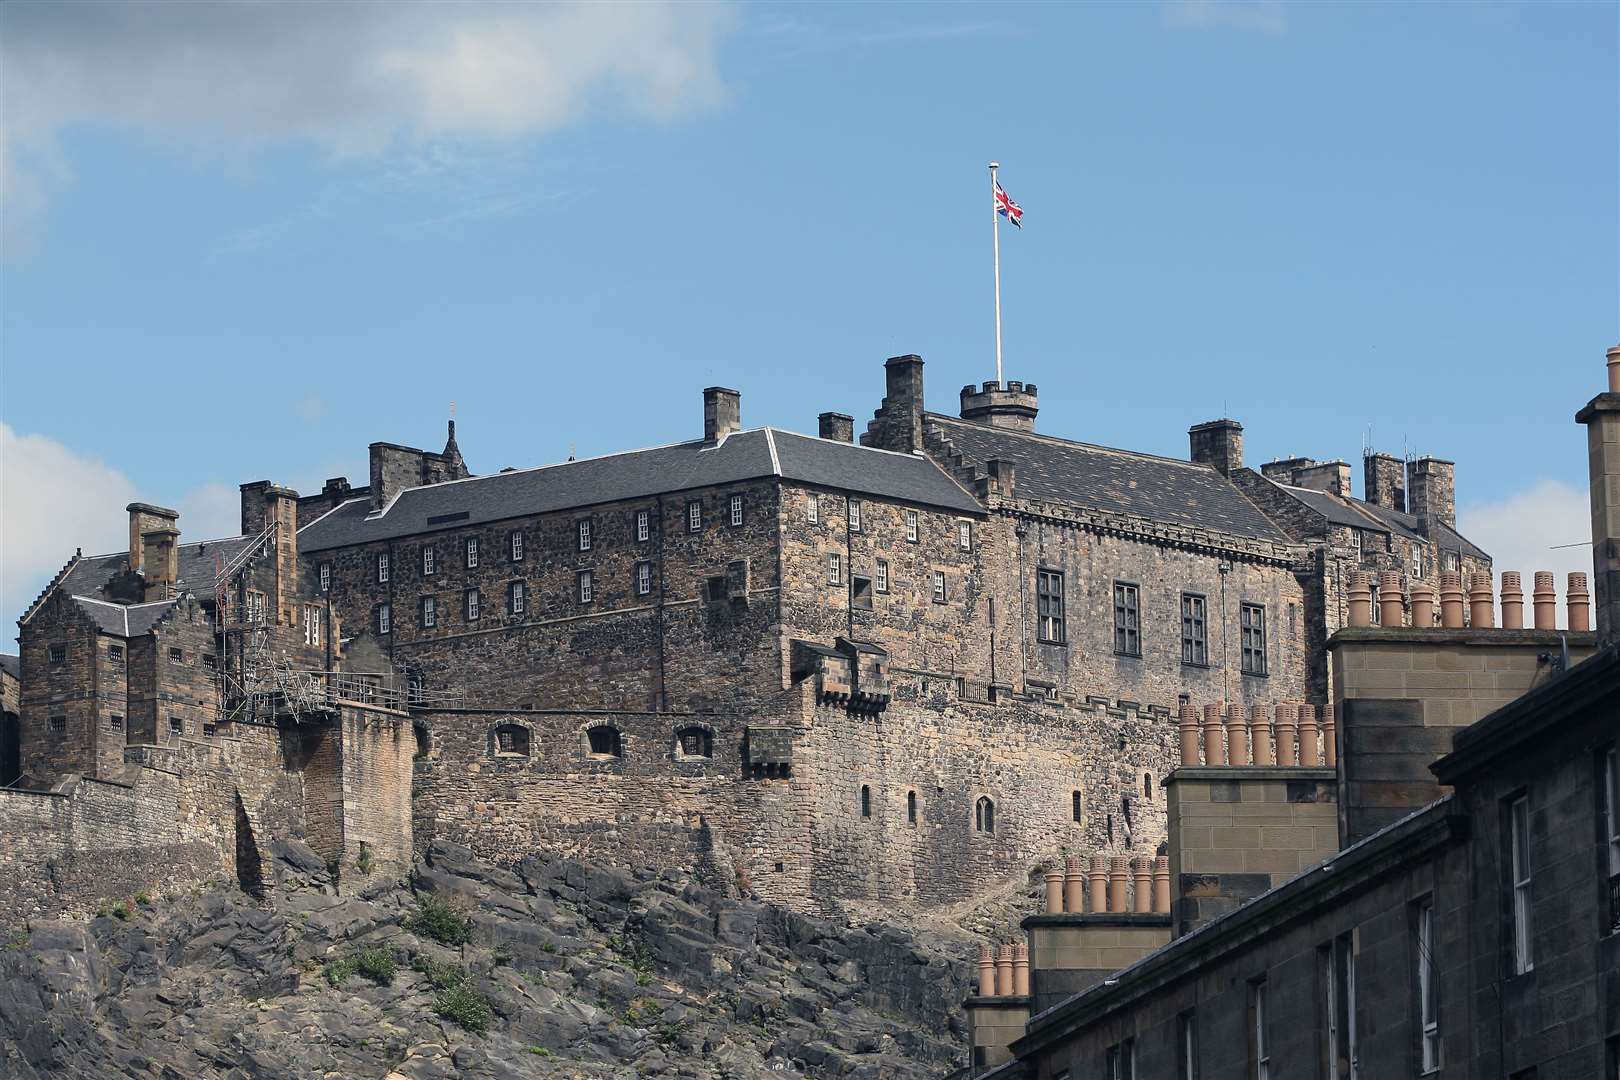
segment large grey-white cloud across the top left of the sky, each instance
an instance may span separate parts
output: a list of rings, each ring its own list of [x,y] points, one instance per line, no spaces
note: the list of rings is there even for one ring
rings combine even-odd
[[[0,5],[0,199],[37,210],[57,136],[134,130],[204,154],[337,155],[533,136],[598,110],[669,120],[724,100],[711,3]],[[10,230],[10,225],[8,225]]]

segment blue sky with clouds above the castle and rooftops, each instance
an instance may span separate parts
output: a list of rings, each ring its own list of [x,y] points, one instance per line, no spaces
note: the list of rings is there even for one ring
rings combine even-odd
[[[0,614],[130,497],[233,531],[238,483],[363,483],[450,400],[475,471],[692,437],[716,382],[862,427],[896,353],[951,410],[991,157],[1043,431],[1371,427],[1536,559],[1588,536],[1620,340],[1617,11],[5,5]]]

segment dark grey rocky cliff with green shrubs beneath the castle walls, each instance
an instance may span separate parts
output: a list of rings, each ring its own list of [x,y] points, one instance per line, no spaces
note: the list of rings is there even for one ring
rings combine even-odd
[[[358,895],[300,844],[275,845],[275,871],[261,899],[141,895],[0,942],[0,1075],[940,1077],[966,1061],[966,939],[447,844]]]

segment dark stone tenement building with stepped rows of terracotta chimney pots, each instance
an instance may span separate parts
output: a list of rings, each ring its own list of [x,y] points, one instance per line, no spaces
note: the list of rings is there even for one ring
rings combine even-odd
[[[1602,576],[1620,348],[1578,421]],[[1592,633],[1575,573],[1555,630],[1550,576],[1526,625],[1503,575],[1500,627],[1489,581],[1464,602],[1442,572],[1437,612],[1426,583],[1385,576],[1374,625],[1358,572],[1322,724],[1186,709],[1166,857],[1048,873],[1025,939],[978,959],[969,1070],[1620,1077],[1620,623],[1599,604]]]

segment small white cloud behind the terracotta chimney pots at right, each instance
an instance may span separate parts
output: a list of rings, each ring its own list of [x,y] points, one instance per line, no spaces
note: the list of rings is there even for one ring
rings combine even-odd
[[[1458,531],[1490,552],[1500,599],[1502,572],[1518,570],[1524,586],[1524,622],[1536,570],[1552,570],[1558,589],[1558,625],[1568,625],[1565,585],[1571,570],[1592,573],[1592,517],[1584,491],[1542,479],[1497,502],[1458,510]],[[1573,547],[1571,547],[1573,544]],[[1497,612],[1500,620],[1500,610]]]

